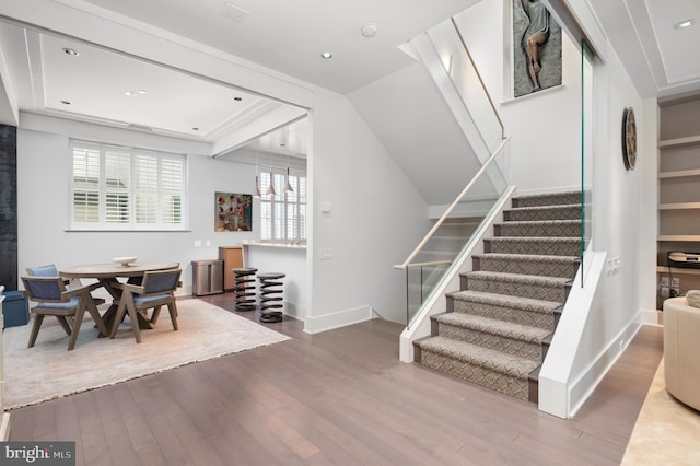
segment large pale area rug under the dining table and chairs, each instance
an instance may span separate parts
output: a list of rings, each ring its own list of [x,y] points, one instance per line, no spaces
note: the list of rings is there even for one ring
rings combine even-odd
[[[140,345],[131,333],[97,338],[89,318],[72,351],[67,351],[68,336],[54,317],[44,321],[34,348],[26,347],[32,323],[5,328],[5,409],[290,339],[196,299],[178,301],[177,310],[179,330],[173,331],[165,310],[154,329],[141,331]]]

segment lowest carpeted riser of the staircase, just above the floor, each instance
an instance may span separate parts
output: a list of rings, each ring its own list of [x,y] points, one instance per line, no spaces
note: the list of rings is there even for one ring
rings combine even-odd
[[[510,395],[514,398],[523,400],[528,399],[527,380],[504,375],[479,365],[455,360],[424,349],[421,351],[420,363],[467,382]]]

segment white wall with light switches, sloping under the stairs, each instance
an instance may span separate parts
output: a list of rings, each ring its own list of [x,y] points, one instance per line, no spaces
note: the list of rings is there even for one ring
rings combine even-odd
[[[354,107],[317,89],[313,104],[312,270],[307,331],[368,318],[406,321],[401,264],[428,231],[428,205]],[[320,205],[330,202],[323,213]],[[332,248],[334,258],[320,251]]]

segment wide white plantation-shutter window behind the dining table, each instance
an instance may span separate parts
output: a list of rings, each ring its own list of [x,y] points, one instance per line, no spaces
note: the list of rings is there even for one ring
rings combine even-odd
[[[184,155],[82,141],[71,145],[72,229],[186,228]]]

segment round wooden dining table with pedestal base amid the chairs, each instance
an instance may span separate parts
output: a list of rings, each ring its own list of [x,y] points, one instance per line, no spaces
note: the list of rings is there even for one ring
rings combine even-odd
[[[61,277],[67,279],[94,279],[112,295],[113,301],[109,308],[102,315],[102,319],[108,330],[114,326],[119,326],[119,322],[115,322],[117,308],[119,307],[119,299],[121,290],[115,284],[119,283],[119,279],[126,279],[127,283],[141,284],[143,275],[148,271],[168,270],[179,267],[179,263],[130,263],[128,265],[119,263],[92,264],[83,266],[68,267],[59,270]],[[137,313],[139,328],[151,329],[148,316]],[[108,335],[105,335],[108,336]]]

